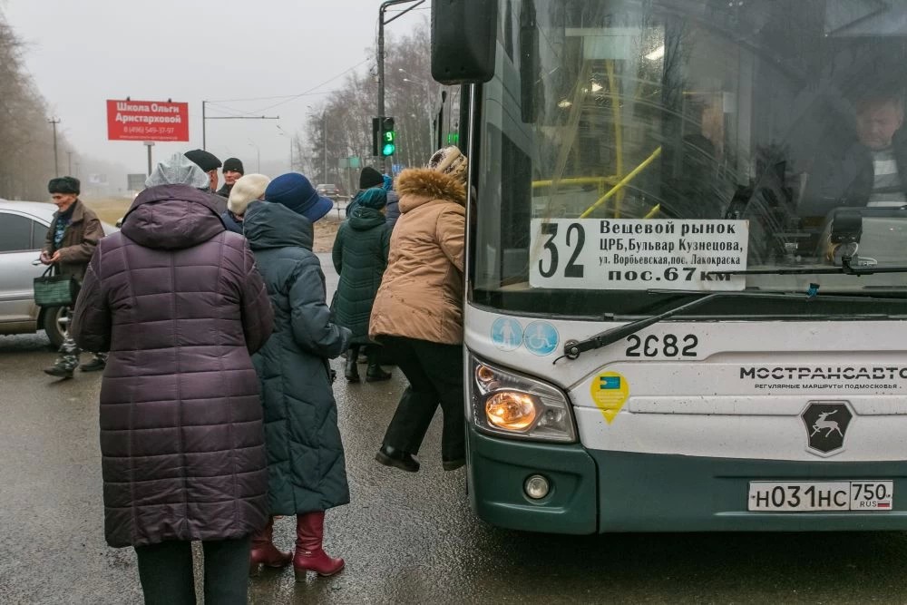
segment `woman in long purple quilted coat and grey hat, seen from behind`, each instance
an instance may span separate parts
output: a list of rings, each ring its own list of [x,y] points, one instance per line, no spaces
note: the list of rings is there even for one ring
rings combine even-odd
[[[268,506],[250,354],[274,314],[205,173],[177,153],[149,181],[165,184],[142,191],[122,230],[102,240],[73,317],[77,343],[111,352],[100,417],[106,539],[134,547],[145,602],[195,602],[200,541],[205,602],[246,603],[250,536]]]

